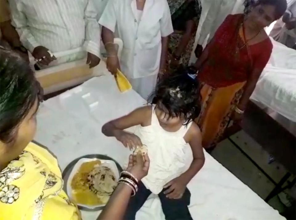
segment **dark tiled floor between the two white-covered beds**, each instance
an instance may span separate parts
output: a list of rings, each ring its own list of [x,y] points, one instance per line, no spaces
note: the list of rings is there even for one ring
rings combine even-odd
[[[287,181],[294,180],[296,137],[253,103],[250,103],[245,112],[241,128],[233,126],[229,129],[229,138],[225,137],[211,154],[265,199],[287,173],[291,174]],[[272,163],[269,163],[270,155],[275,159]],[[285,192],[295,198],[294,187],[295,184]],[[295,200],[290,208],[278,196],[274,196],[268,203],[287,219],[296,219]]]

